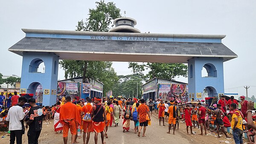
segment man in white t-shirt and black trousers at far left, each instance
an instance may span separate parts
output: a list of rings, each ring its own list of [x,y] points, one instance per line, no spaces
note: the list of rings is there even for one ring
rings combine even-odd
[[[23,108],[22,106],[27,102],[25,97],[20,97],[18,99],[18,103],[12,106],[9,109],[6,121],[7,125],[9,125],[10,130],[10,144],[22,144],[22,135],[25,132],[24,124],[23,124]]]

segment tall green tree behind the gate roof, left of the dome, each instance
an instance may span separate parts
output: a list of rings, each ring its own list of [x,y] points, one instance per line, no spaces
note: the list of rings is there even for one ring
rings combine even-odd
[[[89,18],[84,22],[78,22],[76,31],[108,32],[113,27],[111,20],[120,17],[120,9],[113,2],[105,3],[104,0],[96,2],[96,9],[89,9]],[[62,60],[61,67],[65,70],[65,78],[97,79],[104,84],[103,95],[111,90],[118,82],[116,72],[112,68],[112,62]]]

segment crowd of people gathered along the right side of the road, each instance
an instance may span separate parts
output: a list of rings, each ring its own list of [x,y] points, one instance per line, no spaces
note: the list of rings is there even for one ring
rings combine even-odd
[[[256,114],[253,111],[253,106],[249,108],[247,105],[252,104],[253,102],[248,102],[245,100],[245,97],[242,95],[241,99],[241,109],[239,110],[239,103],[234,99],[234,96],[230,97],[230,100],[226,100],[224,95],[221,96],[221,99],[218,101],[218,104],[213,104],[208,106],[204,104],[204,101],[194,101],[192,98],[191,102],[187,104],[182,104],[176,101],[165,101],[158,99],[153,102],[151,99],[148,102],[150,112],[157,109],[159,125],[163,122],[165,126],[166,122],[169,124],[169,131],[172,130],[175,134],[175,129],[179,128],[179,119],[182,119],[186,123],[186,132],[194,135],[192,128],[198,128],[201,130],[199,135],[207,135],[207,130],[211,132],[216,132],[218,138],[220,138],[220,132],[223,133],[226,138],[230,138],[227,135],[224,127],[231,127],[233,130],[233,138],[236,144],[243,144],[242,135],[243,132],[247,132],[247,138],[250,143],[254,144],[253,139],[256,138],[254,128],[256,124]],[[248,116],[247,113],[252,112],[253,116]],[[250,119],[250,120],[249,120]],[[210,127],[210,124],[216,125],[216,128]],[[212,129],[211,129],[212,128]]]

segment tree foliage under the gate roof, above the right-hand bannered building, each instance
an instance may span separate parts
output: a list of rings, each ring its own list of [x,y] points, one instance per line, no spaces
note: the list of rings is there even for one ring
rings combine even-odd
[[[152,78],[166,78],[172,79],[176,76],[187,77],[188,68],[183,63],[143,63],[138,64],[129,62],[129,67],[132,68],[133,72],[140,75],[143,80],[148,81]],[[150,69],[147,75],[144,76],[143,71]]]

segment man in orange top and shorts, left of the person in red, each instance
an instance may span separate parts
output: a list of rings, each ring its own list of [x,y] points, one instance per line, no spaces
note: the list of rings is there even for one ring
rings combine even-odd
[[[168,109],[168,113],[169,113],[169,120],[168,120],[168,124],[169,124],[169,133],[170,134],[170,130],[172,129],[172,124],[173,124],[173,134],[175,135],[175,124],[176,124],[176,110],[177,107],[174,106],[174,102],[170,101],[171,106]]]

